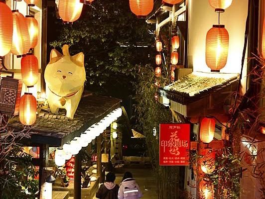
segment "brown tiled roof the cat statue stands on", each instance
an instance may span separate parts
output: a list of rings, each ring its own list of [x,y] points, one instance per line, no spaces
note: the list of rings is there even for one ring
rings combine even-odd
[[[60,146],[119,107],[120,102],[121,100],[111,97],[85,97],[80,101],[74,119],[65,117],[64,113],[54,115],[42,112],[30,129],[32,135],[29,141]],[[24,128],[19,121],[11,122],[10,126],[15,127],[15,130]]]

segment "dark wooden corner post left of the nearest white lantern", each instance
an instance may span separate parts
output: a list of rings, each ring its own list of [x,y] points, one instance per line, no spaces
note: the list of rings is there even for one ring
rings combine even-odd
[[[43,168],[47,167],[49,163],[49,146],[42,144],[39,146],[39,197],[41,186],[45,183],[44,176],[42,176]]]

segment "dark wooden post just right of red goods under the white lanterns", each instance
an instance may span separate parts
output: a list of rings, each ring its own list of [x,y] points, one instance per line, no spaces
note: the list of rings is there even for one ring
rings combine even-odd
[[[75,156],[74,199],[81,199],[81,166],[82,159],[80,153],[78,153]]]

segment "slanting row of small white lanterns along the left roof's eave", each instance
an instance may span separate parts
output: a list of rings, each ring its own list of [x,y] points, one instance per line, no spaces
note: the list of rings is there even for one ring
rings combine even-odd
[[[69,160],[72,155],[76,155],[82,149],[87,147],[96,137],[98,137],[104,130],[111,125],[115,120],[122,116],[122,108],[116,108],[110,112],[107,116],[101,119],[98,123],[90,126],[80,136],[75,137],[70,142],[65,143],[63,146],[58,147],[55,151],[55,164],[57,166],[63,166],[66,160]]]

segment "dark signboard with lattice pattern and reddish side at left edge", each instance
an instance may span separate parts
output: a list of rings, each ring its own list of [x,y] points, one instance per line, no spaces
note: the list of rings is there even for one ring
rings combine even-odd
[[[6,72],[4,72],[6,73]],[[11,73],[11,72],[8,72]],[[19,112],[22,81],[11,77],[2,77],[0,85],[0,112],[16,115]]]

